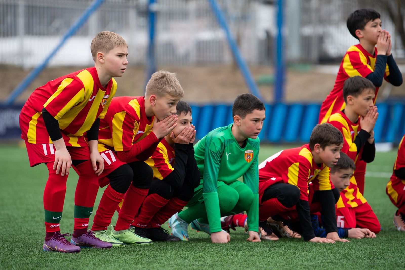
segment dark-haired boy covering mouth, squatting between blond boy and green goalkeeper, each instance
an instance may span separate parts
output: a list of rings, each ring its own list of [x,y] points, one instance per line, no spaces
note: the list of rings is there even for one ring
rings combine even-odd
[[[200,184],[200,171],[194,158],[196,131],[191,107],[182,100],[177,104],[176,128],[166,135],[146,163],[153,169],[149,194],[132,222],[135,233],[154,241],[179,241],[161,225],[179,212]]]

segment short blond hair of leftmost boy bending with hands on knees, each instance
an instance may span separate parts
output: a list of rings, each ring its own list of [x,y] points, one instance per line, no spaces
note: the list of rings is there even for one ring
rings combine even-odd
[[[93,60],[96,61],[97,53],[108,53],[112,49],[118,46],[126,46],[124,38],[110,31],[103,31],[98,33],[92,40],[90,45],[90,51],[92,52]]]

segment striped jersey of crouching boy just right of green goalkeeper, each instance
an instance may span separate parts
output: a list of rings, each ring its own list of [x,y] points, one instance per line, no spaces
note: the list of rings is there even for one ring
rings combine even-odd
[[[259,165],[259,183],[277,177],[298,187],[300,199],[306,201],[309,182],[313,183],[314,190],[335,188],[330,182],[330,168],[325,164],[315,164],[309,145],[282,150]]]

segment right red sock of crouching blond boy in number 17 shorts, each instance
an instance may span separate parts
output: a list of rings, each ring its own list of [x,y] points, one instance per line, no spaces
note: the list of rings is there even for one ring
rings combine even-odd
[[[125,193],[121,210],[119,210],[115,230],[120,231],[129,228],[130,224],[134,220],[134,217],[138,214],[143,200],[145,200],[145,197],[148,195],[148,191],[149,189],[141,189],[139,187],[130,185],[129,189]],[[115,208],[117,207],[115,206]]]

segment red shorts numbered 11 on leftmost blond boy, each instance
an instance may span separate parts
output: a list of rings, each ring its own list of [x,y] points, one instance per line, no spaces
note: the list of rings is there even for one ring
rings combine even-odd
[[[36,166],[41,163],[55,162],[55,146],[52,143],[33,144],[25,141],[30,166]],[[88,146],[66,146],[70,157],[77,160],[89,160],[90,148]]]

